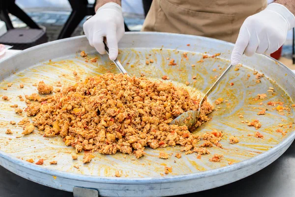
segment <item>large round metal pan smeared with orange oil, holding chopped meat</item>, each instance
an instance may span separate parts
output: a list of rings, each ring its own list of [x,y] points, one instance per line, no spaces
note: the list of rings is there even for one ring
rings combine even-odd
[[[119,59],[131,75],[140,76],[144,73],[148,78],[161,79],[166,74],[179,86],[185,86],[186,81],[190,82],[187,88],[191,93],[196,93],[197,90],[204,93],[215,80],[214,77],[228,66],[233,44],[182,34],[126,33],[119,48]],[[98,61],[85,62],[79,55],[82,50],[89,53],[90,57],[97,56]],[[183,57],[183,52],[188,52],[188,59]],[[221,55],[198,63],[205,52],[209,55]],[[146,65],[147,56],[154,60],[153,64]],[[168,66],[170,60],[167,58],[175,59],[178,66]],[[193,67],[192,64],[196,66]],[[44,139],[35,131],[28,136],[16,138],[22,128],[10,125],[9,121],[18,122],[22,117],[16,115],[14,108],[9,106],[18,104],[24,108],[25,103],[19,101],[17,96],[36,92],[36,87],[32,84],[40,80],[52,85],[57,81],[76,83],[88,75],[97,75],[108,70],[118,73],[118,70],[107,56],[95,53],[85,36],[27,49],[0,63],[0,96],[10,98],[9,101],[0,101],[0,165],[49,187],[78,192],[79,188],[76,190],[75,187],[92,188],[98,190],[102,196],[178,195],[207,190],[242,179],[275,161],[295,137],[293,128],[289,127],[293,127],[294,122],[291,104],[295,98],[295,74],[265,55],[244,57],[242,64],[239,70],[230,71],[209,98],[212,103],[217,98],[229,101],[218,105],[220,109],[217,106],[217,110],[210,115],[212,120],[196,131],[223,131],[225,136],[220,141],[223,149],[211,147],[211,154],[204,155],[201,159],[197,159],[195,154],[182,154],[180,159],[173,155],[168,160],[157,157],[159,151],[176,153],[180,151],[180,147],[156,150],[148,148],[147,155],[139,160],[133,160],[132,155],[124,159],[122,154],[95,153],[91,163],[82,164],[83,153],[78,160],[73,161],[70,153],[74,149],[65,147],[60,137]],[[216,71],[213,71],[214,68]],[[260,79],[261,83],[256,82],[253,69],[265,74]],[[78,72],[78,77],[72,74],[73,71]],[[194,75],[197,77],[195,83],[192,79]],[[8,90],[3,90],[7,83],[13,85]],[[19,83],[23,83],[25,87],[20,89]],[[231,83],[234,85],[231,86]],[[273,87],[275,92],[267,92],[269,87]],[[267,98],[253,100],[257,94],[266,94]],[[285,110],[282,115],[272,106],[266,105],[267,101],[283,101],[289,106],[290,112]],[[260,102],[263,104],[260,105]],[[259,107],[268,109],[266,115],[257,115]],[[241,123],[253,119],[262,123],[259,130]],[[283,124],[282,128],[278,126],[280,124]],[[7,128],[14,134],[5,134]],[[286,136],[276,132],[278,128],[287,131]],[[254,137],[256,131],[262,133],[264,139]],[[247,136],[248,134],[252,136]],[[231,135],[237,136],[240,142],[230,144]],[[214,153],[224,155],[220,163],[209,162]],[[44,159],[41,166],[26,162],[27,159],[37,161],[40,158]],[[58,164],[50,165],[52,160],[58,161]],[[229,165],[229,162],[234,164]],[[80,168],[74,168],[73,165],[79,165]],[[164,165],[172,166],[173,172],[162,177],[160,173],[164,172]],[[122,174],[121,177],[115,177],[116,170]]]

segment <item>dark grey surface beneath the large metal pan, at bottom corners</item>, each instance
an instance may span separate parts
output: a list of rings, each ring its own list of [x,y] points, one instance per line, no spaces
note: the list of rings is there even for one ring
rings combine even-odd
[[[70,192],[24,179],[0,166],[0,197],[72,197]],[[180,197],[295,197],[295,142],[261,171],[219,188]]]

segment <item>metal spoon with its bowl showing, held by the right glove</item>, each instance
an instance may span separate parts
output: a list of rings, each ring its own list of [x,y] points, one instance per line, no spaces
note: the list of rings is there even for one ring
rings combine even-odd
[[[219,84],[221,79],[225,76],[225,74],[231,69],[232,65],[228,66],[224,72],[220,75],[220,77],[213,83],[213,85],[210,87],[210,89],[207,91],[207,93],[202,97],[200,104],[199,104],[199,110],[190,110],[186,111],[182,114],[180,114],[176,119],[174,119],[169,125],[178,125],[183,126],[186,125],[188,129],[190,129],[192,126],[194,126],[200,116],[201,113],[201,107],[205,99],[208,97],[208,95],[212,92],[212,90]]]

